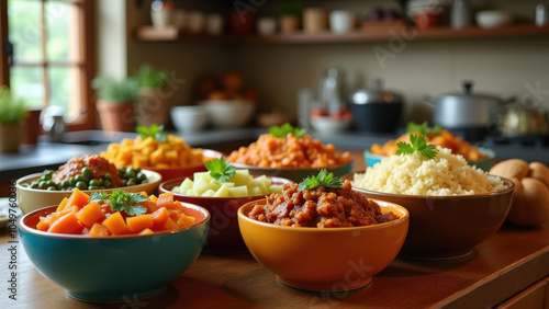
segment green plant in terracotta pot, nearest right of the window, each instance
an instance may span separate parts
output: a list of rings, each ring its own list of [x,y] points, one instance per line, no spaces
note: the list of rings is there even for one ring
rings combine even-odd
[[[92,81],[97,91],[97,108],[101,126],[109,131],[133,131],[138,83],[133,77],[115,80],[98,77]]]

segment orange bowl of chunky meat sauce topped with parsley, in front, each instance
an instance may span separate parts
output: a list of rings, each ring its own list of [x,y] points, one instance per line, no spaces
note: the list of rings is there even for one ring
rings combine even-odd
[[[289,287],[339,291],[368,285],[401,250],[407,210],[368,199],[348,181],[307,180],[238,209],[248,250]]]

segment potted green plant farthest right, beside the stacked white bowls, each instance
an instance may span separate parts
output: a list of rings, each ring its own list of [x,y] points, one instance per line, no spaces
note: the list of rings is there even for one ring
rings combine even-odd
[[[168,85],[169,72],[149,65],[143,65],[135,73],[139,85],[137,125],[166,125],[168,102],[164,88]]]

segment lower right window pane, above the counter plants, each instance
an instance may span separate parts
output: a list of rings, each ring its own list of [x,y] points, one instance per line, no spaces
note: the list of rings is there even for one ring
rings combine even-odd
[[[49,67],[49,105],[61,106],[69,118],[75,118],[81,106],[78,67]]]

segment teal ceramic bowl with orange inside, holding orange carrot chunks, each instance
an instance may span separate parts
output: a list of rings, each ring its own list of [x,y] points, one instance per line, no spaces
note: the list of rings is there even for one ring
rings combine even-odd
[[[76,299],[115,302],[159,294],[202,251],[210,226],[206,209],[183,203],[195,224],[150,236],[91,238],[55,234],[34,227],[56,206],[19,219],[21,242],[36,270]]]

